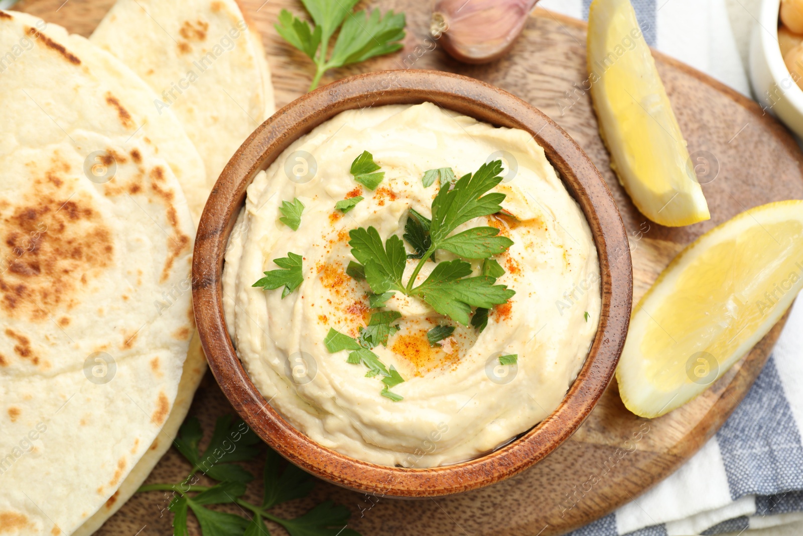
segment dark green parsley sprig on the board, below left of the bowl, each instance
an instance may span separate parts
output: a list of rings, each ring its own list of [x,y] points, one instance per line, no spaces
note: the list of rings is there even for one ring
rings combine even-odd
[[[138,492],[172,492],[167,509],[173,513],[173,536],[189,534],[187,519],[194,513],[203,536],[258,536],[270,534],[266,520],[282,526],[291,536],[360,536],[346,524],[351,512],[344,505],[326,501],[316,505],[298,518],[285,519],[270,510],[285,501],[307,497],[315,480],[293,464],[280,470],[281,457],[267,449],[263,469],[263,498],[252,504],[242,497],[246,484],[254,475],[235,462],[255,460],[262,449],[259,438],[240,419],[231,415],[220,417],[215,423],[209,446],[200,452],[198,444],[203,437],[198,419],[190,418],[181,425],[174,442],[178,452],[192,465],[189,475],[174,484],[149,484]],[[198,473],[204,473],[218,484],[197,485]],[[207,508],[210,505],[236,504],[240,510],[250,512],[250,518],[234,513]]]

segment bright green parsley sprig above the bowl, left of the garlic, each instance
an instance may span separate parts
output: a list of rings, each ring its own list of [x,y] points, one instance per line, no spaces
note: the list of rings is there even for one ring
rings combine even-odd
[[[357,11],[352,14],[358,0],[301,0],[315,24],[281,10],[275,24],[287,43],[296,47],[315,63],[315,76],[309,90],[318,87],[320,77],[329,69],[359,63],[377,55],[385,55],[402,48],[405,32],[405,15],[389,10],[383,17],[379,10]],[[341,26],[342,25],[342,26]],[[331,54],[329,41],[340,27]],[[328,54],[328,59],[327,59]]]

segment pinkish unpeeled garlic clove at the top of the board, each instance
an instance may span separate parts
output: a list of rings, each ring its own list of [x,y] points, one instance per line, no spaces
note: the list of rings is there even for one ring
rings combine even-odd
[[[430,33],[458,61],[487,63],[512,47],[538,0],[436,0]]]

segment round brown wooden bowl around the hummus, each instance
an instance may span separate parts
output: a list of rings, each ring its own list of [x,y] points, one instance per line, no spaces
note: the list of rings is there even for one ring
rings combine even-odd
[[[370,464],[324,448],[293,428],[267,403],[234,351],[222,309],[222,268],[246,188],[291,142],[336,114],[382,104],[430,101],[491,125],[531,133],[580,204],[597,245],[602,308],[596,338],[565,399],[543,422],[485,456],[434,468]],[[625,342],[633,295],[625,228],[599,171],[569,134],[510,93],[479,80],[436,71],[385,71],[353,76],[294,100],[243,143],[215,184],[195,241],[195,320],[210,369],[234,409],[267,443],[309,473],[382,497],[437,497],[491,485],[544,459],[569,438],[608,386]]]

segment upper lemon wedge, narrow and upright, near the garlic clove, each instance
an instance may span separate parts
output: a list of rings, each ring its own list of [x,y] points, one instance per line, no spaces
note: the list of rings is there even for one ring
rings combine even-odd
[[[587,47],[600,135],[636,208],[669,227],[711,218],[629,0],[591,2]]]

